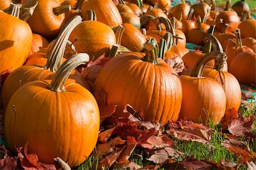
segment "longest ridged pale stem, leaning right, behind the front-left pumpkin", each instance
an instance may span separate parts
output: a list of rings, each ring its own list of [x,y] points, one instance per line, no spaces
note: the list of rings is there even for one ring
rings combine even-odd
[[[56,72],[61,65],[61,61],[65,52],[65,47],[68,42],[69,35],[73,29],[82,22],[81,16],[77,15],[62,28],[60,34],[57,36],[54,45],[49,47],[49,54],[47,55],[47,63],[44,69]]]

